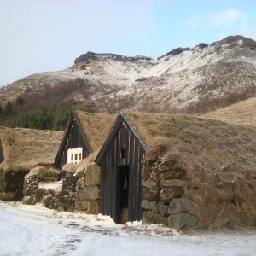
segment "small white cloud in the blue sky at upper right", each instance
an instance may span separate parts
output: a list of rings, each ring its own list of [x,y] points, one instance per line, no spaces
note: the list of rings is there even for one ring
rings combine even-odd
[[[244,23],[247,20],[247,14],[242,13],[236,9],[228,9],[218,14],[208,15],[212,26],[231,26],[236,21]]]

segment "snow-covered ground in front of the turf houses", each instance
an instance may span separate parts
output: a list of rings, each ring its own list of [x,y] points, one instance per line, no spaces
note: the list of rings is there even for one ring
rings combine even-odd
[[[256,230],[177,232],[0,201],[0,255],[254,255]]]

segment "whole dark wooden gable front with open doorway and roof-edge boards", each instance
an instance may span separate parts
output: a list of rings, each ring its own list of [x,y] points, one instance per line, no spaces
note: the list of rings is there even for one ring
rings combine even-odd
[[[116,223],[142,218],[141,171],[147,148],[125,113],[119,113],[96,157],[101,167],[100,212]]]

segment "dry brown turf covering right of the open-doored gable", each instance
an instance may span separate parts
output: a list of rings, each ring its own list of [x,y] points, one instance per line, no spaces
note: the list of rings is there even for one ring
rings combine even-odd
[[[189,115],[129,113],[166,160],[187,171],[185,196],[200,228],[256,226],[256,128]]]

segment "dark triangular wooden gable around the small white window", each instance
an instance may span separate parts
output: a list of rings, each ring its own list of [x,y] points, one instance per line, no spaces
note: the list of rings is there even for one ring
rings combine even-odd
[[[55,158],[55,168],[61,169],[63,165],[67,164],[67,150],[70,148],[82,148],[82,159],[92,152],[79,117],[74,110],[68,120],[61,146]]]

